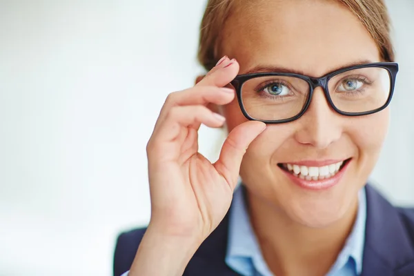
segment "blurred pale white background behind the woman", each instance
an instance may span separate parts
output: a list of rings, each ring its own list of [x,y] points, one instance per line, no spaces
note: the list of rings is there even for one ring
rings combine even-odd
[[[400,73],[372,179],[414,205],[414,1],[388,0]],[[111,275],[150,216],[146,143],[193,86],[206,0],[0,1],[0,275]],[[201,128],[215,160],[223,133]],[[211,143],[217,141],[217,143]]]

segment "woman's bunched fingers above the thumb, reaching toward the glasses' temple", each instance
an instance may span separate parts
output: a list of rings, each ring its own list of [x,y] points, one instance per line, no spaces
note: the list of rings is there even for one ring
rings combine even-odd
[[[201,124],[212,128],[223,126],[224,118],[209,110],[206,105],[208,103],[225,105],[233,101],[234,90],[223,86],[230,83],[237,72],[239,72],[237,61],[224,57],[195,87],[168,95],[148,141],[147,149],[153,148],[152,145],[170,149],[171,144],[168,142],[180,137],[179,134],[180,132],[182,134],[184,128],[198,129]],[[161,145],[162,143],[164,146]],[[163,150],[165,151],[166,148]]]

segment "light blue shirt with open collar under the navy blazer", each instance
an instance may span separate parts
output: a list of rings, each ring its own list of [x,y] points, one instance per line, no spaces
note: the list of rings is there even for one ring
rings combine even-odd
[[[361,274],[366,224],[364,188],[359,191],[358,200],[358,213],[353,230],[328,276],[356,276]],[[264,261],[250,224],[241,186],[235,190],[229,219],[226,264],[244,276],[273,276]]]

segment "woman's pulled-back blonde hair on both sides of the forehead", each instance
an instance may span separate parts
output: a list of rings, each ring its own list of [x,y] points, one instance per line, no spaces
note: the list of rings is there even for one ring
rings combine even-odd
[[[211,70],[219,57],[220,31],[236,2],[242,0],[208,0],[201,21],[198,60]],[[246,1],[246,0],[245,0]],[[249,0],[252,2],[253,0]],[[258,0],[257,0],[258,1]],[[390,36],[390,18],[384,0],[336,0],[349,8],[377,43],[383,61],[394,61]]]

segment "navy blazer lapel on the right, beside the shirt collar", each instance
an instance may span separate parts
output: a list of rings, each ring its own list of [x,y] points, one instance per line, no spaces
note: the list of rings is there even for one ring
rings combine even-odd
[[[369,185],[366,203],[362,276],[413,276],[414,250],[397,209]]]

